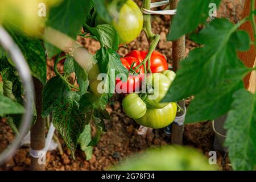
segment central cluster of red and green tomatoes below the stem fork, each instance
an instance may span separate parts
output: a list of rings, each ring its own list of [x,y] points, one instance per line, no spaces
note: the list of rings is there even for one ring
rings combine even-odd
[[[134,50],[122,57],[120,61],[130,71],[142,63],[146,55],[147,51]],[[167,60],[160,52],[154,51],[152,53],[150,63],[152,73],[147,75],[146,93],[141,93],[142,82],[146,76],[143,66],[139,67],[135,73],[129,73],[126,81],[117,78],[115,90],[118,90],[118,93],[126,94],[122,101],[126,115],[142,126],[159,129],[170,125],[176,116],[177,105],[175,102],[160,102],[166,95],[176,74],[168,70]],[[90,90],[97,96],[101,96],[98,92],[98,84],[102,81],[96,79],[97,73],[100,71],[96,64],[89,72]],[[126,85],[125,88],[117,87],[120,82],[122,85]]]

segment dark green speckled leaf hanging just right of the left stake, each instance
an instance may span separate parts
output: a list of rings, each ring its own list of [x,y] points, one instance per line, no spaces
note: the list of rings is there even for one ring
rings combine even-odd
[[[52,112],[53,125],[59,131],[74,156],[77,140],[84,130],[86,120],[79,110],[80,96],[69,90],[59,77],[49,80],[43,90],[42,116]]]

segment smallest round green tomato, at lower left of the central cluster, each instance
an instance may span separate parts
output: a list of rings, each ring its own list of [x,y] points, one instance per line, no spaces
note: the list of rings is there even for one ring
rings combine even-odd
[[[122,101],[123,111],[130,118],[141,118],[147,111],[146,104],[136,93],[131,93],[125,96]]]

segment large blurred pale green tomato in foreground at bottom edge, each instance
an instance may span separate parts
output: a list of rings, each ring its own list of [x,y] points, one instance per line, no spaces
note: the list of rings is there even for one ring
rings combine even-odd
[[[143,154],[127,158],[117,167],[118,171],[212,171],[217,165],[210,165],[202,152],[192,147],[162,146],[150,148]]]

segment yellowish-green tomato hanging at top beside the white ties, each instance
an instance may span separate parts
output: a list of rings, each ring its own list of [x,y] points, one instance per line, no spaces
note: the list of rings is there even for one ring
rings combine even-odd
[[[105,22],[96,17],[96,26]],[[127,0],[119,11],[117,19],[113,20],[112,26],[118,33],[119,44],[128,44],[139,36],[143,27],[143,15],[137,4],[131,0]]]

